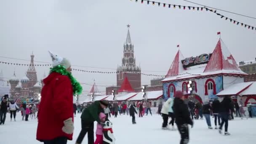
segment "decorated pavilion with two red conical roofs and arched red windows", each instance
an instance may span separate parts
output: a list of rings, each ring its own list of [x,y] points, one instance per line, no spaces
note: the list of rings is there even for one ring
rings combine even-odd
[[[246,75],[221,39],[213,53],[184,58],[179,50],[162,80],[163,98],[168,99],[173,97],[175,91],[182,91],[200,103],[218,99],[217,93],[235,83],[243,83]],[[189,81],[192,81],[191,85]]]

